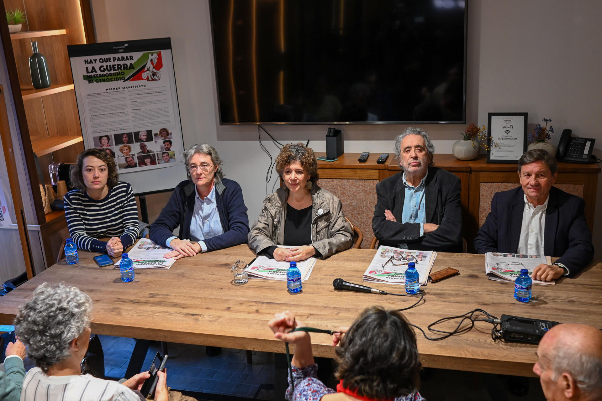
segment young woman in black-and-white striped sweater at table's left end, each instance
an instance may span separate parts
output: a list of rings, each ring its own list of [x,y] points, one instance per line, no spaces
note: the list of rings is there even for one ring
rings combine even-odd
[[[115,159],[98,148],[79,153],[70,177],[75,189],[64,201],[73,242],[78,249],[119,257],[140,233],[131,185],[119,182]]]

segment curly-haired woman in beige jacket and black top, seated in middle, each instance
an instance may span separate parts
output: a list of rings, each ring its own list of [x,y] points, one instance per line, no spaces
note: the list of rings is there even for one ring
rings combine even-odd
[[[276,171],[285,186],[265,198],[247,236],[249,248],[279,262],[320,259],[351,248],[353,231],[343,204],[317,185],[314,151],[301,142],[284,145],[276,158]]]

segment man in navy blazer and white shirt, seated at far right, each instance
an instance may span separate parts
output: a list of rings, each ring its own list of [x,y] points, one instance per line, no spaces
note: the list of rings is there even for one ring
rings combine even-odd
[[[497,192],[491,212],[474,239],[478,253],[501,252],[559,256],[541,264],[535,280],[574,275],[594,257],[592,235],[582,198],[554,188],[556,161],[542,149],[529,150],[518,161],[521,186]]]

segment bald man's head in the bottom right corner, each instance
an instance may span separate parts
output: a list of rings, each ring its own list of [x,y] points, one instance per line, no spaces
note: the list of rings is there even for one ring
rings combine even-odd
[[[554,326],[537,351],[533,372],[548,400],[602,397],[602,331],[588,325]]]

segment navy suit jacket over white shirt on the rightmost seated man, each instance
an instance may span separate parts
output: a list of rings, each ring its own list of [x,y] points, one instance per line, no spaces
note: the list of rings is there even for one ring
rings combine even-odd
[[[474,238],[477,253],[517,253],[523,210],[523,188],[497,192],[491,200],[491,212]],[[555,187],[550,189],[545,209],[544,254],[560,256],[556,262],[565,265],[569,275],[579,272],[594,257],[585,201]]]

